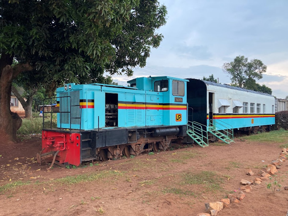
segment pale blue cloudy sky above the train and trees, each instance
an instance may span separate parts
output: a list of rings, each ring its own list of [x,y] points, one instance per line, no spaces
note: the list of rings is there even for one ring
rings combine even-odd
[[[230,83],[222,65],[236,56],[257,58],[267,65],[258,82],[272,88],[277,98],[288,95],[287,0],[159,0],[166,5],[164,39],[152,49],[145,68],[132,77],[113,76],[120,85],[141,76],[219,78]]]

